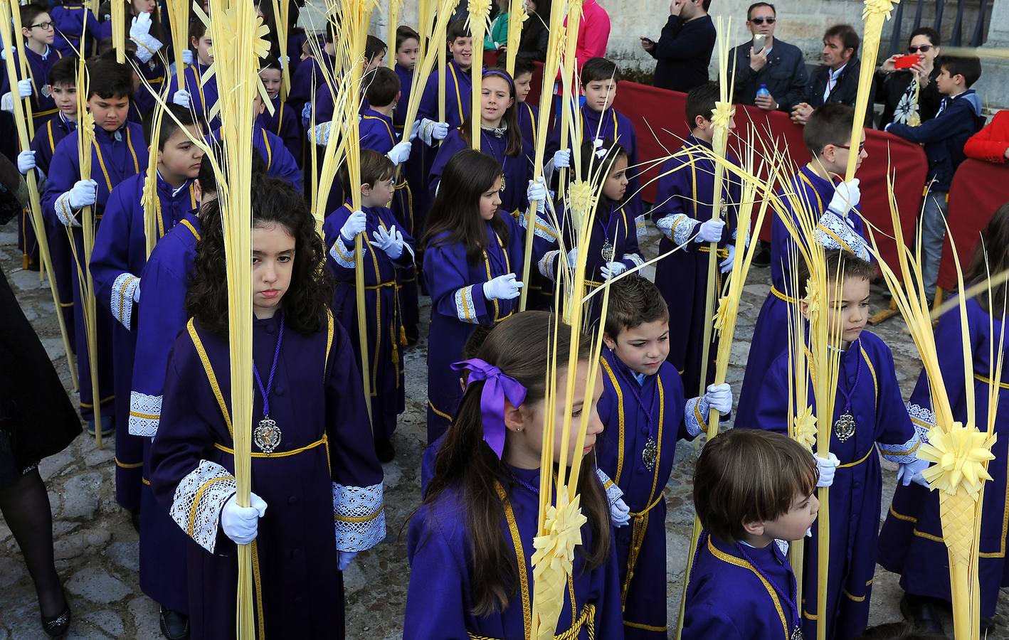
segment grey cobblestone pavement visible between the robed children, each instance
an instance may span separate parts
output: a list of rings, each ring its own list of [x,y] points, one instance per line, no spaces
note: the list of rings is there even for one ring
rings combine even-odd
[[[654,238],[646,246],[654,255]],[[13,225],[0,228],[0,265],[76,402],[47,285],[39,281],[37,273],[20,269]],[[767,294],[768,277],[767,269],[753,270],[740,308],[738,340],[728,370],[728,381],[737,391],[757,312]],[[879,291],[874,291],[872,302],[874,309],[887,304]],[[425,308],[422,314],[427,312]],[[872,331],[893,348],[897,375],[906,397],[917,378],[920,363],[903,327],[899,318],[894,318]],[[385,541],[358,555],[344,575],[348,638],[402,636],[410,577],[405,525],[420,500],[420,456],[426,438],[426,349],[425,337],[416,349],[407,353],[407,411],[401,416],[394,437],[399,455],[384,469]],[[160,637],[157,605],[140,592],[137,584],[137,535],[115,502],[112,458],[112,438],[107,438],[105,446],[99,450],[92,438],[81,436],[40,465],[52,502],[57,569],[65,581],[74,611],[69,637],[156,639]],[[693,445],[681,442],[677,464],[666,487],[669,505],[666,590],[671,625],[679,608],[684,558],[693,522],[690,492],[695,460]],[[884,462],[883,467],[885,510],[893,492],[896,466]],[[871,622],[899,620],[899,596],[896,577],[880,569],[873,590]],[[1005,596],[1000,604],[998,629],[988,636],[992,639],[1009,638]],[[945,626],[951,629],[951,621],[947,620]],[[44,636],[38,625],[34,589],[10,530],[0,520],[0,640],[41,637]]]

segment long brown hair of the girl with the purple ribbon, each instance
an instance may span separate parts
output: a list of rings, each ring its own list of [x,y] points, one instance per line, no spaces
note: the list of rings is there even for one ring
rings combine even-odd
[[[553,335],[557,317],[547,311],[525,311],[513,315],[487,335],[477,357],[497,367],[526,387],[527,406],[545,394],[547,337]],[[557,332],[557,362],[567,362],[571,350],[570,331],[562,325]],[[589,356],[591,340],[580,341],[578,355]],[[560,374],[560,371],[558,371]],[[512,544],[504,539],[501,520],[504,511],[494,489],[495,481],[509,492],[518,482],[508,465],[484,445],[480,396],[483,382],[474,382],[456,411],[435,461],[434,477],[428,485],[424,504],[436,502],[450,487],[462,490],[466,509],[466,530],[471,553],[470,584],[473,615],[484,616],[503,610],[519,589],[519,566]],[[595,475],[595,454],[582,461],[578,479],[582,512],[588,518],[591,548],[582,546],[585,570],[600,566],[609,552],[609,503]]]

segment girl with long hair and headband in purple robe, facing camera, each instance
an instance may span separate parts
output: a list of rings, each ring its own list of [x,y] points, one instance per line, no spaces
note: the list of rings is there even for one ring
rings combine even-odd
[[[525,214],[529,209],[530,201],[542,203],[546,189],[537,187],[533,198],[522,188],[532,188],[533,166],[522,150],[522,131],[512,77],[506,71],[488,69],[483,72],[481,91],[480,141],[474,147],[469,116],[458,128],[449,131],[428,174],[429,196],[433,199],[437,195],[445,165],[452,156],[462,149],[474,147],[497,160],[501,169],[501,211],[518,218],[518,214]]]

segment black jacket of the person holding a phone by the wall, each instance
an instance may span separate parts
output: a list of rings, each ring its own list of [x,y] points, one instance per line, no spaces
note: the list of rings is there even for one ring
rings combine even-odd
[[[688,92],[707,82],[707,66],[714,49],[714,24],[711,16],[683,22],[669,16],[662,35],[649,51],[655,65],[656,87]]]

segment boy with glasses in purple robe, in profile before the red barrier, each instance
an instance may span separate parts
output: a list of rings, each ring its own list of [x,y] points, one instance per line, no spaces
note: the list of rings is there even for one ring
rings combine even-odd
[[[816,241],[827,249],[845,249],[863,260],[871,259],[865,225],[859,209],[861,191],[859,178],[840,182],[848,165],[848,145],[852,136],[855,111],[842,104],[826,104],[809,117],[802,138],[812,154],[808,164],[799,169],[781,194],[793,225],[798,225],[799,212],[818,220]],[[865,133],[858,163],[866,158]],[[736,407],[736,423],[753,423],[757,410],[757,393],[768,367],[788,350],[788,305],[797,301],[792,291],[791,256],[801,257],[788,228],[777,216],[771,223],[771,291],[757,316],[750,355],[747,359],[740,401]],[[801,284],[801,283],[800,283]]]

